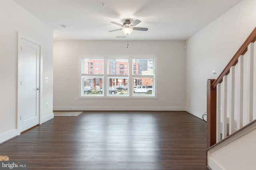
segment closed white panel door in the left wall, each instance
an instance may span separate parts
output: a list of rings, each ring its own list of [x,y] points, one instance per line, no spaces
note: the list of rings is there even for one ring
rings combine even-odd
[[[39,124],[40,46],[20,38],[18,121],[20,131]]]

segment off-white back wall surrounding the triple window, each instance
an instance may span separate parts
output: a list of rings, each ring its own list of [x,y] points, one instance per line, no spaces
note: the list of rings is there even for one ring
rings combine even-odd
[[[54,110],[185,110],[185,41],[130,41],[128,48],[126,43],[54,41]],[[157,55],[158,98],[79,99],[79,55]]]

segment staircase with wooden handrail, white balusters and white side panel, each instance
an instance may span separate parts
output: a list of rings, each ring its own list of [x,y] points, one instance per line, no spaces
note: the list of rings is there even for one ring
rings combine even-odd
[[[209,169],[256,169],[255,41],[256,27],[220,76],[207,80]]]

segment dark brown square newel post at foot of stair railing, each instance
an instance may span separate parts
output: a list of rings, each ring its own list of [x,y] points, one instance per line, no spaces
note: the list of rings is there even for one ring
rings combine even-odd
[[[212,88],[215,79],[207,80],[207,148],[216,143],[216,88]]]

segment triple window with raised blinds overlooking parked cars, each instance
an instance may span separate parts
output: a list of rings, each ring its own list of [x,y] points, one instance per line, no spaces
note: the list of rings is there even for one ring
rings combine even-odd
[[[81,96],[155,97],[156,56],[81,57]],[[104,83],[105,82],[105,83]]]

